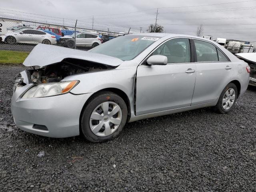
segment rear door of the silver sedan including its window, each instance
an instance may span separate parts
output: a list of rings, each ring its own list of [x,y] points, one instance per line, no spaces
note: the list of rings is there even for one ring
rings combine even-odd
[[[192,105],[215,101],[230,82],[232,62],[214,44],[194,39],[196,50],[196,85]]]

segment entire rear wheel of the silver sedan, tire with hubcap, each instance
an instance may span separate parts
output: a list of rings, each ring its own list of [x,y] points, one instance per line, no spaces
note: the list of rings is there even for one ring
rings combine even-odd
[[[214,107],[215,111],[220,114],[227,114],[230,112],[234,108],[237,96],[238,91],[236,85],[234,83],[229,83],[220,94],[218,103]]]

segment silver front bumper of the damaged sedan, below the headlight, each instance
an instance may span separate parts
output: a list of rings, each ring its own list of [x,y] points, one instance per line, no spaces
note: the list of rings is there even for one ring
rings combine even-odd
[[[18,128],[54,138],[79,135],[80,114],[91,94],[68,93],[46,98],[21,99],[20,94],[26,90],[24,87],[17,87],[12,97],[12,115]]]

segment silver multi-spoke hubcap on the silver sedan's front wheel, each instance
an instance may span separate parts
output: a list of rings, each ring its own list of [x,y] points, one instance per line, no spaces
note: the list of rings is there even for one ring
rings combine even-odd
[[[122,110],[115,102],[103,102],[90,116],[90,129],[100,137],[114,133],[122,121]]]

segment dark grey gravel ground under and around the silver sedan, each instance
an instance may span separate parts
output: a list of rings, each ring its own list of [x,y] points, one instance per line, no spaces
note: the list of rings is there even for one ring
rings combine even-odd
[[[22,69],[0,66],[1,192],[256,191],[255,89],[230,114],[204,108],[141,120],[93,144],[16,128],[10,100]]]

